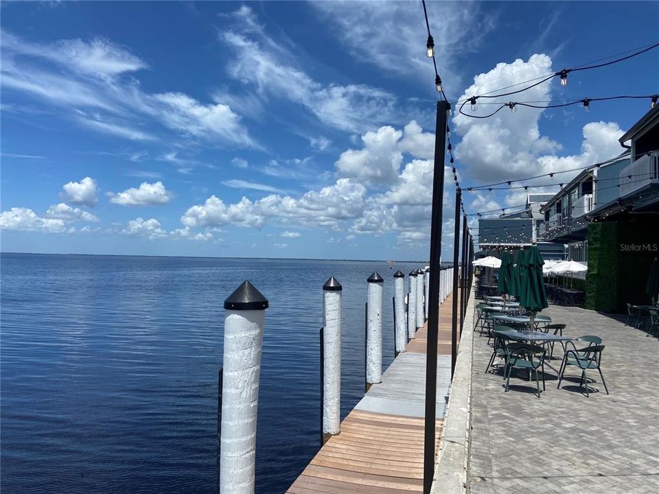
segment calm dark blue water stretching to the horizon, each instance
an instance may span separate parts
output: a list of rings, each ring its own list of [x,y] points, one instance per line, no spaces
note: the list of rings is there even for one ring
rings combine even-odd
[[[1,255],[1,479],[10,493],[216,492],[222,303],[270,301],[256,485],[285,491],[319,448],[323,283],[343,284],[343,416],[362,397],[367,261]],[[406,279],[407,283],[407,279]]]

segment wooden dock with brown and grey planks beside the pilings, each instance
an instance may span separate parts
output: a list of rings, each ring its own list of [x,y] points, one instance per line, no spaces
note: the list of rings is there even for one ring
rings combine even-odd
[[[450,390],[451,316],[449,295],[439,309],[436,455]],[[329,438],[288,493],[423,491],[427,334],[425,326],[417,331],[382,383],[371,386],[341,423],[341,433]]]

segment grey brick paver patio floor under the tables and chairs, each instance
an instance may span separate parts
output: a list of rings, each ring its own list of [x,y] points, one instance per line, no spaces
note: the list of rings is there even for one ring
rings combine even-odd
[[[625,327],[622,317],[556,306],[542,314],[568,325],[566,336],[603,338],[611,394],[591,371],[601,392],[581,395],[574,367],[561,389],[547,370],[540,399],[535,381],[511,378],[504,392],[500,371],[485,373],[487,338],[474,333],[470,492],[659,493],[659,340]]]

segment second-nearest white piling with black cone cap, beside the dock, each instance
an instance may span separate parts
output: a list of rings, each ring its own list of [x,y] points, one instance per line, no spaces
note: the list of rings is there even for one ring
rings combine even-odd
[[[323,285],[323,444],[341,432],[341,292],[331,277]]]

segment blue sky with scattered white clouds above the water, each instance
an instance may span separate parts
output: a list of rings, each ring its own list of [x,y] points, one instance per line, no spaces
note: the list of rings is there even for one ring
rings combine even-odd
[[[437,93],[421,3],[1,5],[3,251],[427,259]],[[457,99],[654,43],[659,3],[428,13]],[[658,54],[513,100],[651,95]],[[648,109],[454,114],[461,185],[611,158]],[[522,202],[465,194],[468,212]]]

